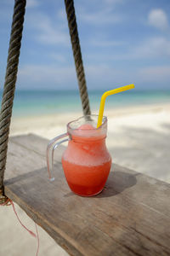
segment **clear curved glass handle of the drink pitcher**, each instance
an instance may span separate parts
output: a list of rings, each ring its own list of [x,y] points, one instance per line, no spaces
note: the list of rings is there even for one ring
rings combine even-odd
[[[68,137],[62,141],[60,139]],[[54,181],[54,150],[59,147],[61,143],[70,141],[68,133],[61,134],[57,137],[54,137],[49,143],[47,148],[47,166],[48,166],[48,178],[50,181]]]

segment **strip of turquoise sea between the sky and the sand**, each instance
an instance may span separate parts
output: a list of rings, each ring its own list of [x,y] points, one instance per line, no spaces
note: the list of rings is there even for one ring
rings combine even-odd
[[[105,90],[88,91],[92,113],[98,113]],[[2,91],[0,91],[0,100]],[[170,102],[170,90],[129,90],[109,96],[105,108]],[[17,117],[82,111],[78,90],[16,90],[13,115]]]

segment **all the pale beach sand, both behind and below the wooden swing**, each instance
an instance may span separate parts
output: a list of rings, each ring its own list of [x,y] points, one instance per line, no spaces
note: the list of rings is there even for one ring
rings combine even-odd
[[[108,117],[107,146],[113,163],[170,183],[170,104],[110,109],[105,110],[105,115]],[[66,131],[68,121],[80,116],[82,113],[14,118],[10,136],[35,133],[51,139]],[[18,206],[16,210],[23,223],[35,230],[26,213]],[[2,207],[0,216],[3,244],[0,255],[35,255],[37,241],[20,226],[12,207]],[[40,227],[38,231],[39,255],[68,255]]]

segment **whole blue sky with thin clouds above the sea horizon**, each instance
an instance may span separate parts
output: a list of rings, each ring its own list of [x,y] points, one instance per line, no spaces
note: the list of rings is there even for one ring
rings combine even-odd
[[[170,0],[75,0],[88,90],[170,89]],[[0,88],[14,1],[0,1]],[[64,0],[27,0],[20,90],[75,90]]]

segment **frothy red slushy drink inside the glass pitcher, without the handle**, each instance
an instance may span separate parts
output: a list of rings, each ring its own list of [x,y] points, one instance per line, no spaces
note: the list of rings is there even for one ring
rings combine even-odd
[[[62,165],[67,183],[77,195],[97,195],[105,186],[111,170],[105,137],[105,132],[92,125],[82,125],[71,134]]]

